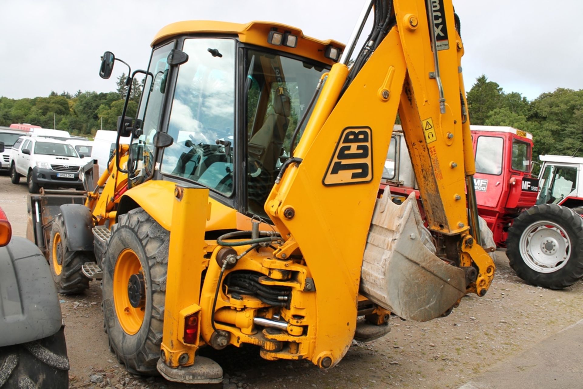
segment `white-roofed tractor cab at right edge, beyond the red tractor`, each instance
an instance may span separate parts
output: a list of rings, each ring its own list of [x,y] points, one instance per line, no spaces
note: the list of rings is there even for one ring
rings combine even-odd
[[[583,158],[541,155],[540,192],[536,204],[559,204],[567,208],[583,206],[581,174]]]

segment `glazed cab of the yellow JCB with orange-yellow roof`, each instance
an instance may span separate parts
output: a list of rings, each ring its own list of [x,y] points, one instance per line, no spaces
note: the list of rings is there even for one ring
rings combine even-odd
[[[266,216],[291,139],[307,124],[298,122],[343,45],[276,23],[188,21],[164,27],[152,46],[147,70],[134,72],[145,77],[138,114],[124,114],[119,129],[132,136],[129,187],[150,179],[206,187],[212,201]],[[112,57],[104,55],[102,77]]]

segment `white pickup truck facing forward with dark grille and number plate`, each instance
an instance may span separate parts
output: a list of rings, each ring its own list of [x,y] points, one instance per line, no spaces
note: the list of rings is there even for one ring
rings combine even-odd
[[[79,180],[80,168],[85,164],[75,148],[68,142],[41,136],[22,136],[14,145],[14,158],[10,166],[13,184],[26,177],[30,193],[48,187],[83,188]]]

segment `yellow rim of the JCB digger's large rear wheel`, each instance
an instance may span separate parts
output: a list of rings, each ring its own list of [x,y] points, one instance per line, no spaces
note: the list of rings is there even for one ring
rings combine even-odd
[[[129,278],[141,272],[142,265],[138,255],[131,248],[124,248],[117,257],[113,271],[113,299],[121,328],[129,335],[136,334],[144,320],[143,308],[132,307],[128,296]]]

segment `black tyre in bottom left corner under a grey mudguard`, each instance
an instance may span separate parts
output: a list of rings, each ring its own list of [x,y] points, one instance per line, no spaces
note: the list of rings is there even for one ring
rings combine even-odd
[[[63,328],[57,334],[0,348],[0,389],[69,387],[69,359]]]

